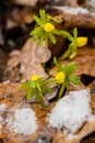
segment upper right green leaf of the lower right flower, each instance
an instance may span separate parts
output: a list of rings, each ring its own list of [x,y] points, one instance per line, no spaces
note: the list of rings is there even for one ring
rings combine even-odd
[[[71,75],[76,70],[76,63],[71,62],[69,65],[66,66],[66,74]]]

